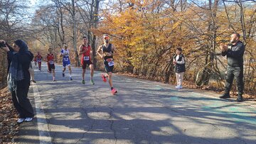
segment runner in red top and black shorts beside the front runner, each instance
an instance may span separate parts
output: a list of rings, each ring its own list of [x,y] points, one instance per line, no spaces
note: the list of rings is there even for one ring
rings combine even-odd
[[[87,65],[89,65],[89,67],[90,67],[90,75],[91,75],[90,82],[92,85],[95,84],[92,79],[94,70],[93,70],[93,63],[91,60],[91,54],[92,54],[92,51],[91,51],[90,45],[88,45],[87,37],[83,36],[82,37],[82,45],[80,45],[80,52],[79,52],[79,55],[82,55],[82,57],[81,57],[82,84],[85,84],[85,69],[86,69]]]

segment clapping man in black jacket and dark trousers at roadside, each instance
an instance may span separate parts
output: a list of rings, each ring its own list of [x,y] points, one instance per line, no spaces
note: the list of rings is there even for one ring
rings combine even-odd
[[[228,68],[226,75],[225,93],[220,96],[221,99],[230,98],[230,89],[235,77],[238,83],[238,102],[243,101],[242,94],[244,89],[243,82],[243,55],[245,45],[239,40],[239,33],[233,33],[230,36],[230,45],[220,45],[222,55],[227,55]]]

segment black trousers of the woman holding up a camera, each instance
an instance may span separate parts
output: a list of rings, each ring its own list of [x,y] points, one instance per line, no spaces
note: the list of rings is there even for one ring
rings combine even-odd
[[[29,83],[17,84],[16,91],[11,92],[11,99],[20,118],[33,118],[33,107],[29,101],[28,89]]]

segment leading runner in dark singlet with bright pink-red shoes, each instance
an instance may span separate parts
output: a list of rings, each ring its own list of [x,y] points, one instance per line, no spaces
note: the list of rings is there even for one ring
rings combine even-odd
[[[104,66],[107,74],[102,74],[102,80],[103,82],[107,82],[106,77],[109,79],[109,84],[111,87],[112,94],[117,94],[117,90],[114,89],[112,84],[112,72],[114,68],[114,61],[113,61],[113,55],[114,52],[116,52],[116,48],[114,45],[109,43],[110,36],[105,34],[103,35],[104,45],[100,45],[100,47],[97,50],[97,54],[100,55],[100,57],[104,60]]]

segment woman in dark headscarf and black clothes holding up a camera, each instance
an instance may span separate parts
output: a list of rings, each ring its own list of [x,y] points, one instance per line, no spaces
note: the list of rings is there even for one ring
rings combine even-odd
[[[14,41],[13,48],[4,40],[0,40],[1,50],[7,52],[9,65],[8,88],[11,92],[14,107],[18,111],[18,123],[32,121],[33,108],[28,96],[31,76],[28,72],[33,54],[28,51],[28,46],[23,40]],[[12,51],[14,50],[14,52]]]

